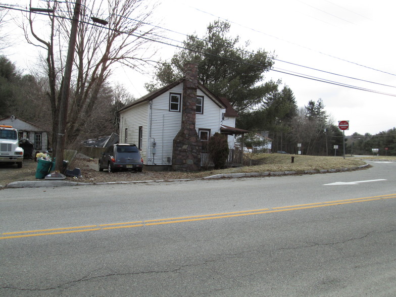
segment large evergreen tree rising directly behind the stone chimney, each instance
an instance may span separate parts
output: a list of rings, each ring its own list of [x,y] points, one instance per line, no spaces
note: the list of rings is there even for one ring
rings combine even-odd
[[[184,64],[192,61],[198,64],[199,81],[215,95],[227,97],[236,111],[259,106],[279,84],[262,83],[264,73],[273,65],[272,55],[262,49],[246,51],[246,47],[238,45],[238,36],[228,36],[229,29],[228,22],[215,21],[202,39],[188,36],[184,41],[186,49],[177,52],[170,64],[158,68],[155,82],[146,84],[147,90],[182,78]]]

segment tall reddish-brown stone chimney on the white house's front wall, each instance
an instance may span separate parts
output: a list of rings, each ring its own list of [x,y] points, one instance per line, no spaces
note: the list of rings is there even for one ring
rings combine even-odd
[[[181,128],[173,139],[172,170],[195,171],[201,169],[202,143],[195,130],[196,89],[198,66],[184,65]]]

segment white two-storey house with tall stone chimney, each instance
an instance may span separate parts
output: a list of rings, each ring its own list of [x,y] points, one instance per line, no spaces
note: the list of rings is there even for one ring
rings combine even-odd
[[[216,132],[234,147],[237,114],[197,81],[190,64],[185,77],[119,110],[120,142],[138,146],[143,164],[173,170],[198,170],[207,160],[207,143]]]

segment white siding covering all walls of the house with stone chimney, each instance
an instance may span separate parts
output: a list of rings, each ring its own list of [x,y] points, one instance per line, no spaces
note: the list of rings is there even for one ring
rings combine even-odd
[[[180,112],[169,111],[170,93],[183,94],[183,83],[154,98],[150,103],[143,102],[120,113],[120,141],[123,141],[125,128],[128,128],[128,143],[137,145],[138,127],[143,126],[141,155],[145,165],[172,165],[173,139],[180,130],[182,107],[180,106]],[[204,113],[196,114],[196,131],[210,129],[211,135],[220,132],[221,108],[200,89],[197,89],[197,95],[204,96]],[[234,127],[235,124],[229,126]]]

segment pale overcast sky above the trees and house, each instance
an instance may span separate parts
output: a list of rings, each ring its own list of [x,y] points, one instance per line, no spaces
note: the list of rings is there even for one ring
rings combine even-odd
[[[16,0],[19,1],[27,2]],[[0,0],[0,3],[5,2]],[[197,33],[202,37],[210,22],[226,19],[231,23],[232,36],[239,35],[242,42],[250,40],[250,50],[264,48],[273,52],[278,60],[288,62],[275,61],[275,71],[268,72],[266,79],[281,79],[294,92],[300,107],[322,98],[334,124],[340,120],[350,121],[346,135],[375,134],[396,126],[396,2],[162,0],[161,3],[154,17],[165,29],[182,34]],[[185,39],[182,34],[165,33],[176,40]],[[158,46],[158,58],[162,60],[170,59],[176,51],[172,46]],[[10,59],[17,60],[15,55]],[[20,58],[18,61],[17,66],[22,68],[27,62]],[[277,71],[311,76],[315,80]],[[150,73],[141,75],[118,69],[116,74],[135,97],[144,95],[143,83],[151,81]]]

